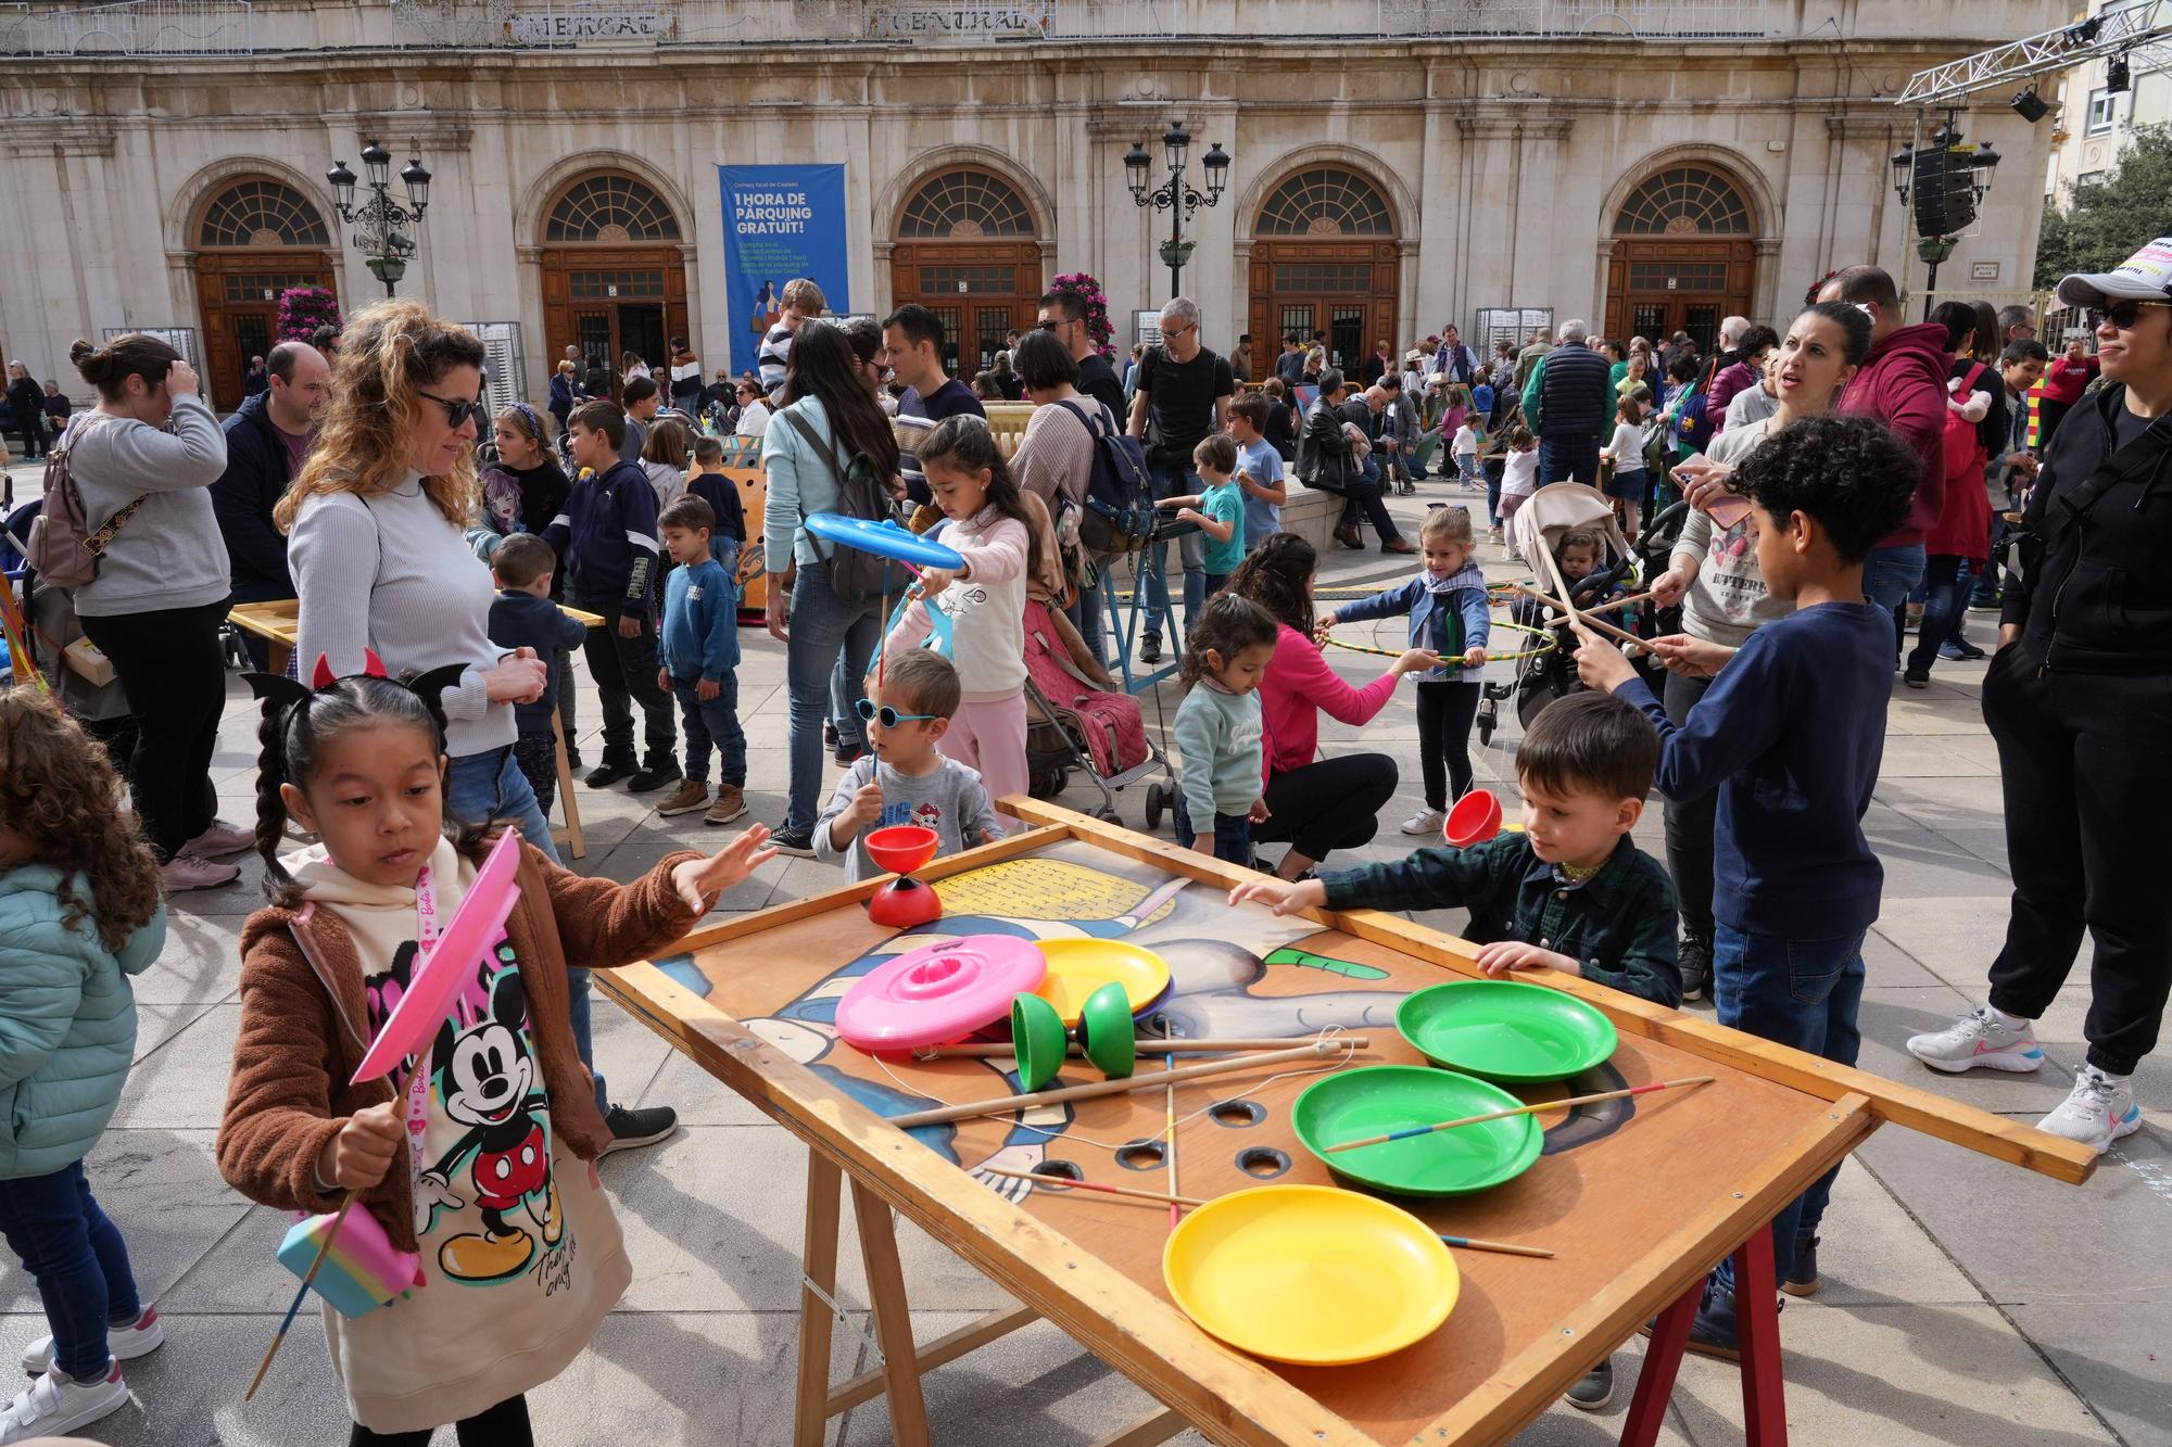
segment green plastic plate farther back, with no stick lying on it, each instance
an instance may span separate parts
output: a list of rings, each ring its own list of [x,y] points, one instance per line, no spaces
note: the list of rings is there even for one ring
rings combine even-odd
[[[1575,995],[1457,980],[1410,995],[1394,1028],[1434,1065],[1503,1084],[1568,1080],[1614,1054],[1614,1021]]]

